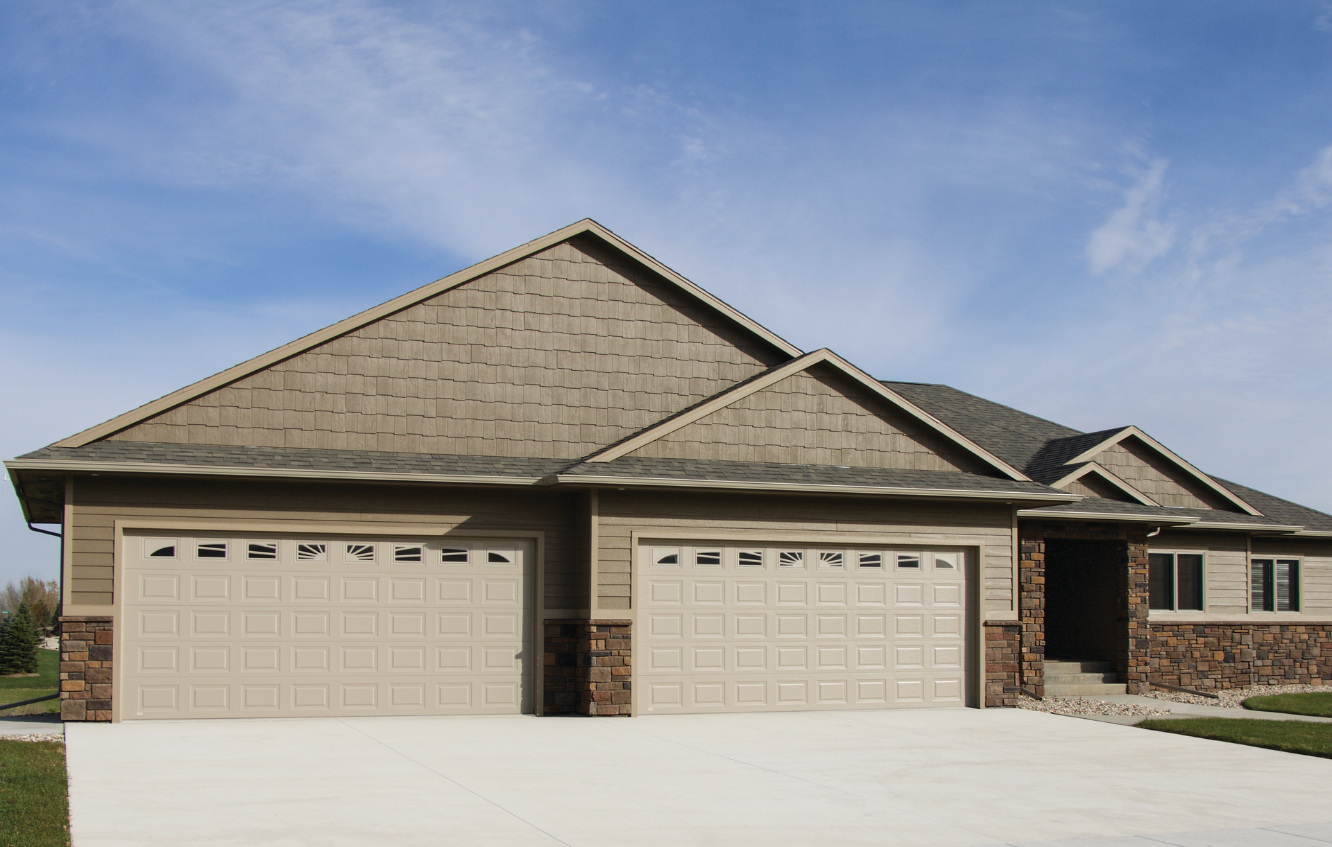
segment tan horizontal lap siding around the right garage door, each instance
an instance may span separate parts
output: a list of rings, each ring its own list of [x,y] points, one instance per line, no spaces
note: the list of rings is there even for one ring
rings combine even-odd
[[[928,546],[979,546],[988,611],[1012,609],[1012,515],[1007,506],[886,503],[862,499],[742,494],[630,494],[602,491],[598,523],[598,606],[629,609],[631,535],[690,531],[798,533],[814,543],[846,535],[910,537]]]

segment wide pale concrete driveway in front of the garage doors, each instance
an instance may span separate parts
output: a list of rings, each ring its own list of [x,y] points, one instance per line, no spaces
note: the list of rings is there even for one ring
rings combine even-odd
[[[1011,708],[67,736],[75,847],[1332,843],[1332,760]]]

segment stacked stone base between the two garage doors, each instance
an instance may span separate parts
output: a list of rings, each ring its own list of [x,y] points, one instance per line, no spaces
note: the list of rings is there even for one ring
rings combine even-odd
[[[629,715],[630,621],[546,621],[547,715]]]

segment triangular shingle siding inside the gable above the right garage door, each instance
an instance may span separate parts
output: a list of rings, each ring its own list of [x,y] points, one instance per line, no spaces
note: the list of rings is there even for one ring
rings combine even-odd
[[[791,374],[629,455],[986,470],[975,457],[826,365]]]

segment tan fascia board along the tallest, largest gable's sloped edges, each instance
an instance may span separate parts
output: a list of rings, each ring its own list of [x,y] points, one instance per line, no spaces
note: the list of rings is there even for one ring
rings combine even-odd
[[[330,326],[325,326],[324,329],[316,330],[308,336],[302,336],[296,341],[285,344],[277,349],[269,350],[268,353],[264,353],[261,356],[256,356],[254,358],[250,358],[248,361],[241,362],[240,365],[234,365],[232,368],[228,368],[226,370],[222,370],[210,377],[200,380],[198,382],[186,385],[185,388],[172,392],[165,397],[160,397],[152,402],[139,406],[137,409],[132,409],[109,421],[99,424],[97,426],[85,429],[81,433],[76,433],[73,435],[69,435],[68,438],[57,441],[52,446],[81,447],[87,443],[92,443],[93,441],[105,438],[107,435],[115,434],[125,427],[133,426],[135,424],[147,421],[148,418],[161,414],[163,412],[173,409],[181,404],[189,402],[196,397],[220,389],[224,385],[234,382],[236,380],[241,380],[244,377],[250,376],[252,373],[256,373],[265,368],[270,368],[272,365],[276,365],[282,360],[304,353],[312,348],[332,341],[338,336],[354,332],[365,326],[366,324],[373,324],[374,321],[388,317],[394,312],[401,312],[402,309],[414,306],[416,304],[424,300],[429,300],[430,297],[442,294],[444,292],[464,285],[465,282],[470,282],[472,280],[476,280],[480,276],[488,274],[493,270],[498,270],[505,265],[511,265],[513,262],[521,261],[531,256],[533,253],[539,253],[541,250],[551,248],[559,244],[561,241],[567,241],[569,238],[573,238],[574,236],[579,236],[583,233],[593,233],[602,241],[606,241],[607,244],[614,246],[615,249],[629,254],[635,261],[647,265],[653,272],[661,274],[662,277],[674,282],[679,288],[685,289],[690,296],[702,300],[713,309],[717,309],[726,317],[741,324],[745,329],[753,332],[754,334],[759,336],[769,344],[777,346],[787,356],[801,356],[799,348],[781,338],[777,333],[769,330],[765,326],[761,326],[753,318],[745,316],[733,306],[722,302],[715,296],[705,292],[698,285],[690,282],[689,280],[675,273],[666,265],[661,264],[647,253],[643,253],[642,250],[629,244],[615,233],[610,232],[597,221],[593,221],[591,218],[583,218],[577,224],[570,224],[569,226],[557,229],[550,234],[542,236],[539,238],[515,246],[511,250],[505,250],[498,256],[492,256],[485,261],[477,262],[476,265],[472,265],[469,268],[464,268],[462,270],[452,273],[441,280],[436,280],[434,282],[410,290],[406,294],[394,297],[388,302],[382,302],[377,306],[366,309],[365,312],[353,314],[349,318],[341,320]]]

